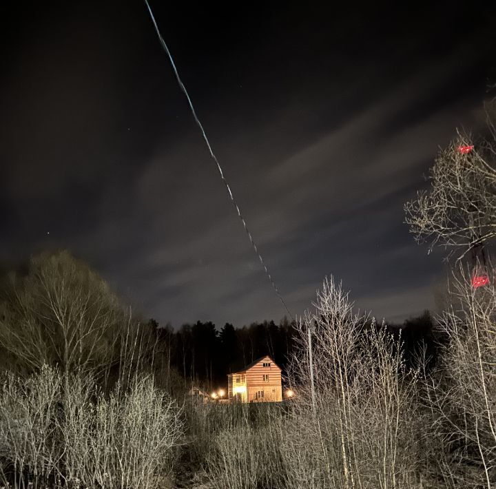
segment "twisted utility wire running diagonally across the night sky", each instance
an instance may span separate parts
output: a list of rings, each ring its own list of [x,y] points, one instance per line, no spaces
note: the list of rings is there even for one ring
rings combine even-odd
[[[148,0],[145,0],[145,3],[146,3],[146,6],[148,8],[148,12],[150,14],[150,17],[152,18],[152,22],[154,24],[154,28],[155,28],[156,34],[158,36],[158,39],[160,40],[163,49],[167,53],[167,56],[169,56],[169,61],[170,61],[171,65],[172,65],[172,69],[174,70],[174,74],[176,75],[176,80],[177,80],[177,82],[179,84],[179,87],[183,91],[183,93],[185,94],[185,96],[187,98],[187,101],[188,101],[188,104],[189,104],[189,108],[191,109],[191,112],[193,114],[193,118],[194,118],[194,120],[196,122],[196,125],[198,125],[198,127],[200,128],[200,131],[202,133],[203,139],[205,140],[205,143],[207,143],[207,147],[208,147],[210,156],[215,161],[215,163],[217,165],[217,168],[218,168],[218,171],[219,171],[219,174],[220,174],[220,178],[222,178],[223,183],[224,183],[224,185],[225,185],[225,187],[227,189],[227,193],[229,194],[229,198],[231,199],[231,202],[233,203],[234,207],[236,208],[236,212],[238,213],[238,217],[240,218],[240,220],[242,222],[242,225],[245,228],[245,231],[246,231],[246,233],[248,235],[248,238],[249,238],[249,240],[251,242],[251,246],[255,250],[255,253],[258,256],[258,259],[260,260],[260,263],[262,264],[262,267],[264,268],[265,273],[266,273],[267,277],[269,278],[269,281],[271,282],[274,291],[276,291],[276,294],[277,294],[277,296],[278,296],[278,298],[279,298],[282,306],[284,306],[284,308],[286,309],[286,312],[289,314],[289,317],[292,320],[293,319],[293,315],[289,312],[289,309],[287,308],[287,305],[286,305],[285,300],[282,298],[282,295],[280,294],[279,289],[277,288],[276,284],[274,283],[274,281],[272,279],[271,274],[269,273],[269,269],[267,269],[267,265],[265,264],[265,262],[264,262],[264,260],[262,258],[262,255],[260,255],[260,253],[258,251],[258,247],[257,247],[256,243],[254,242],[254,239],[251,236],[251,233],[248,230],[248,227],[247,227],[245,218],[243,218],[243,216],[241,214],[241,211],[240,211],[240,208],[238,207],[238,204],[236,203],[236,200],[234,199],[234,196],[233,196],[233,194],[231,192],[231,187],[229,187],[229,183],[227,183],[227,180],[226,180],[226,178],[224,176],[224,172],[223,172],[222,168],[220,167],[220,164],[219,164],[219,162],[217,160],[217,157],[215,156],[214,151],[211,149],[211,145],[210,145],[209,140],[207,138],[207,134],[205,134],[205,129],[203,129],[203,125],[202,125],[202,123],[200,123],[200,119],[198,119],[198,116],[196,115],[196,112],[194,110],[192,100],[191,100],[191,98],[189,98],[189,94],[188,94],[188,92],[186,90],[186,87],[185,87],[183,81],[180,79],[178,70],[176,68],[176,63],[174,63],[174,59],[172,58],[172,54],[170,53],[169,48],[167,47],[167,44],[165,43],[160,30],[158,30],[158,25],[156,23],[154,14],[152,12],[152,8],[149,6]]]

